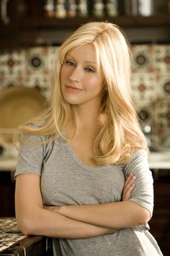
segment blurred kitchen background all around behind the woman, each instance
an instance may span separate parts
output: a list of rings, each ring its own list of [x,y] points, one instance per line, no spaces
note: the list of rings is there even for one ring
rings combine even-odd
[[[79,25],[120,25],[133,54],[133,100],[151,149],[150,221],[170,255],[170,1],[0,0],[0,216],[14,216],[14,129],[47,106],[58,48]]]

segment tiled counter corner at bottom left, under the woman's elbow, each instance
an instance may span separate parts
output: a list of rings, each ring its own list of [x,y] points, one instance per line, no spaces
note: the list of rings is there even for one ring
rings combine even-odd
[[[0,218],[0,256],[52,256],[52,239],[24,236],[15,218]]]

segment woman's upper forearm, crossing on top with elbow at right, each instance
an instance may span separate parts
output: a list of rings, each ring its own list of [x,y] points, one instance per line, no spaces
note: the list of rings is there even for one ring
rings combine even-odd
[[[150,218],[148,210],[130,201],[104,205],[62,206],[58,209],[58,213],[76,221],[112,229],[143,225]]]

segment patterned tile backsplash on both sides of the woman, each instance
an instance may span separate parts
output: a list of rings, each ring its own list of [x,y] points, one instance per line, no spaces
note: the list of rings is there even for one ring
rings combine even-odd
[[[133,45],[133,99],[153,145],[170,148],[170,45]],[[58,47],[0,52],[0,92],[37,87],[48,97]]]

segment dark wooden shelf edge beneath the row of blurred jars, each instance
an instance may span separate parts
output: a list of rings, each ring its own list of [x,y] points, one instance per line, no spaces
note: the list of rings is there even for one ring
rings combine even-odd
[[[142,16],[117,16],[115,18],[110,17],[86,17],[86,18],[45,18],[36,17],[28,19],[27,17],[22,20],[21,27],[24,28],[76,28],[79,25],[86,22],[92,21],[108,21],[120,25],[120,27],[169,27],[170,26],[170,15],[169,14],[158,14],[150,17]]]

